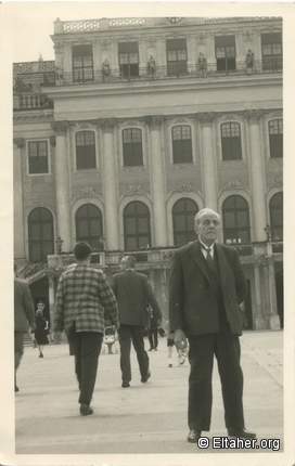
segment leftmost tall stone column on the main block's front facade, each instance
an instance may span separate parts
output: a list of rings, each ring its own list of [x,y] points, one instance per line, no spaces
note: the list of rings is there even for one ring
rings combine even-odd
[[[53,121],[55,131],[56,234],[64,241],[63,249],[72,249],[69,164],[67,157],[67,121]]]

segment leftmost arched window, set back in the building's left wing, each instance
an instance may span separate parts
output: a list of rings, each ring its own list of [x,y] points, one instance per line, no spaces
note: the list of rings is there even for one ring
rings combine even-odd
[[[53,217],[44,207],[37,207],[28,216],[28,251],[30,262],[54,254]]]

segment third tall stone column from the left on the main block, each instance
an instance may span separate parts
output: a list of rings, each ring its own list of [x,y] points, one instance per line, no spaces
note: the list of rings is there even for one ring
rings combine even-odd
[[[167,209],[165,194],[165,173],[162,154],[162,122],[161,116],[148,118],[150,125],[150,177],[153,199],[154,246],[167,246]]]

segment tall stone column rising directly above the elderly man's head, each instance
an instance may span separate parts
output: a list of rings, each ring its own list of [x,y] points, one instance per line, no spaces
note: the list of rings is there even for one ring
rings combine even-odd
[[[217,211],[217,180],[213,134],[214,113],[197,114],[196,119],[201,122],[202,131],[202,178],[205,207]]]

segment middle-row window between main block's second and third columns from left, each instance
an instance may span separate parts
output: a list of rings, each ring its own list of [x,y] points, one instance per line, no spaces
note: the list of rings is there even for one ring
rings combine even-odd
[[[123,157],[125,167],[143,165],[141,129],[128,128],[123,131]]]

